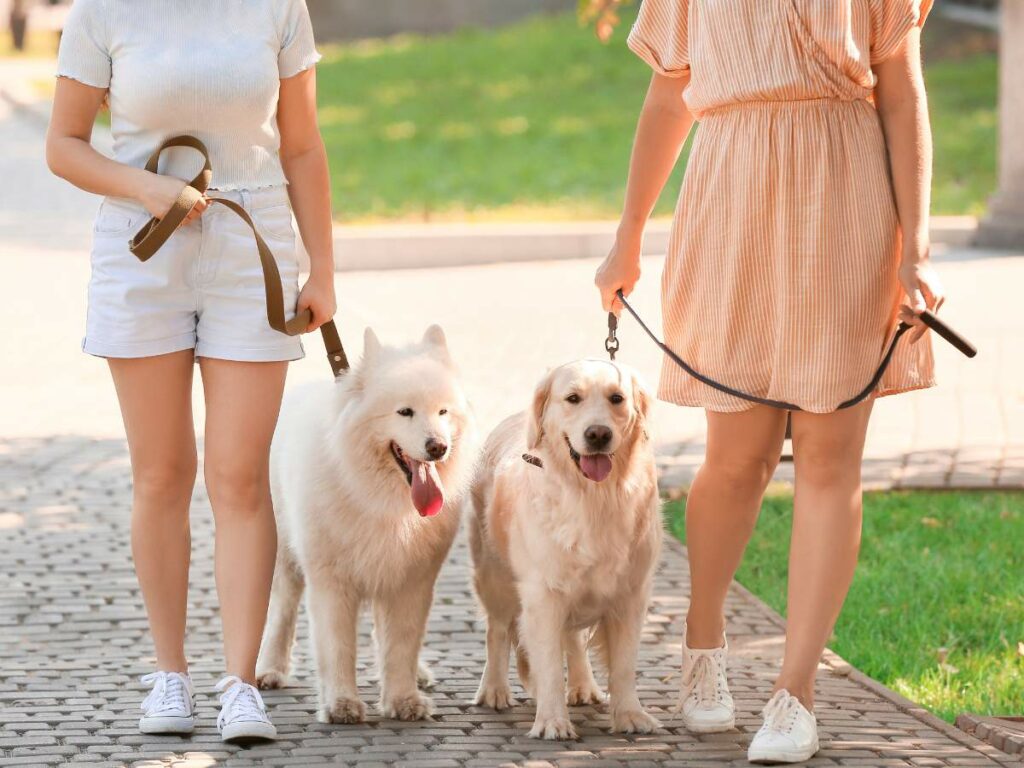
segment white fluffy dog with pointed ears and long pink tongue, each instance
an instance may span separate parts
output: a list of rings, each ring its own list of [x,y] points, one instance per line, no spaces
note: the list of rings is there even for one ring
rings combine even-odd
[[[357,368],[286,398],[270,452],[279,546],[257,664],[262,687],[286,682],[305,587],[319,720],[366,716],[355,680],[364,603],[374,609],[382,714],[430,715],[419,653],[459,526],[473,436],[437,326],[407,348],[382,347],[368,329]]]

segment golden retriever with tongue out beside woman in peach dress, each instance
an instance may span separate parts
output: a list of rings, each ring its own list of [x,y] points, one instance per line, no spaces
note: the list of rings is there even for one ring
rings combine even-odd
[[[530,413],[487,438],[473,481],[470,548],[487,616],[487,662],[476,702],[512,703],[509,649],[537,701],[530,736],[574,738],[570,705],[603,698],[587,654],[608,668],[611,728],[657,722],[636,693],[636,656],[662,541],[649,398],[636,376],[604,360],[551,371]],[[568,665],[568,692],[563,676]]]

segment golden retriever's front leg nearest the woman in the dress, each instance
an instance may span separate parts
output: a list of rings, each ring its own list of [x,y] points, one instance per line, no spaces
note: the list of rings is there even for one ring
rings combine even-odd
[[[646,594],[646,590],[644,591]],[[611,730],[622,733],[650,733],[659,723],[643,711],[637,696],[637,651],[647,613],[646,599],[634,596],[621,610],[602,621],[608,654],[608,698]]]

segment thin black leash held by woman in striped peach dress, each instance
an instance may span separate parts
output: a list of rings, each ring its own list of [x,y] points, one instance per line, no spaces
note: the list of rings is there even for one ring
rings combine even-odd
[[[721,382],[717,382],[714,379],[705,376],[700,372],[696,371],[686,360],[684,360],[682,357],[680,357],[678,354],[672,351],[672,349],[670,349],[669,346],[664,341],[662,341],[659,338],[657,338],[657,336],[654,335],[654,332],[651,331],[650,328],[648,328],[647,324],[643,322],[643,319],[640,317],[639,314],[637,314],[636,309],[634,309],[630,305],[630,303],[626,300],[626,297],[623,295],[622,290],[615,291],[615,296],[617,296],[618,300],[623,302],[623,306],[626,307],[627,311],[633,315],[633,319],[635,319],[640,325],[640,328],[642,328],[644,332],[650,337],[651,341],[657,344],[657,346],[662,349],[662,351],[665,352],[669,356],[669,358],[672,359],[673,362],[675,362],[677,366],[683,369],[683,371],[685,371],[687,374],[692,376],[697,381],[701,382],[702,384],[707,384],[709,387],[717,389],[720,392],[725,392],[726,394],[732,395],[733,397],[739,397],[740,399],[748,400],[750,402],[756,402],[760,406],[770,406],[771,408],[778,408],[782,409],[783,411],[803,411],[803,409],[800,408],[800,406],[797,406],[796,403],[785,402],[784,400],[773,400],[769,397],[759,397],[756,394],[750,394],[748,392],[743,392],[742,390],[734,389],[733,387],[730,387],[726,384],[722,384]],[[956,349],[958,349],[962,353],[964,353],[968,357],[974,357],[978,353],[978,350],[974,346],[974,344],[972,344],[970,341],[965,339],[958,333],[953,331],[943,321],[940,321],[938,316],[931,310],[926,309],[924,312],[921,313],[920,316],[922,322],[926,326],[928,326],[937,334],[939,334],[939,336],[948,341],[950,344],[956,347]],[[837,406],[836,407],[837,411],[841,411],[847,408],[853,408],[858,402],[861,402],[870,396],[871,392],[873,392],[876,387],[878,387],[879,382],[882,381],[882,377],[883,375],[885,375],[886,369],[889,368],[889,364],[892,361],[893,353],[896,351],[896,343],[902,338],[903,334],[905,334],[907,331],[910,330],[910,328],[911,326],[902,322],[899,324],[899,326],[897,326],[896,333],[893,335],[892,341],[889,342],[889,346],[886,349],[886,353],[882,358],[882,362],[879,366],[878,370],[874,372],[874,376],[872,376],[871,380],[867,383],[867,386],[865,386],[862,390],[860,390],[860,392],[858,392],[854,397],[851,397],[850,399],[845,400],[841,402],[839,406]],[[618,318],[614,315],[613,312],[608,312],[608,338],[605,339],[604,341],[604,348],[608,352],[612,360],[615,359],[615,352],[618,351],[618,338],[615,335],[617,330],[618,330]]]

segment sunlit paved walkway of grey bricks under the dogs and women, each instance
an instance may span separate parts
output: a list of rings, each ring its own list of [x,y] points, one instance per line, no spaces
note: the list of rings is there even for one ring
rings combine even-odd
[[[315,723],[313,678],[300,625],[293,687],[267,696],[282,739],[242,751],[214,728],[212,683],[221,667],[212,577],[212,523],[200,486],[193,510],[188,653],[201,727],[191,739],[140,736],[151,645],[128,549],[129,468],[120,417],[101,360],[79,348],[96,202],[52,179],[41,126],[4,115],[0,102],[0,766],[311,765],[418,766],[743,764],[782,646],[776,614],[739,587],[727,611],[737,730],[688,734],[671,711],[689,593],[677,544],[662,559],[639,665],[656,734],[607,734],[606,708],[573,708],[579,742],[524,735],[529,701],[495,714],[470,699],[482,669],[482,625],[460,543],[442,571],[424,652],[438,684],[434,722],[372,717],[364,726]],[[255,255],[254,255],[255,257]],[[357,355],[365,326],[406,341],[430,323],[446,329],[484,427],[524,407],[548,366],[602,354],[604,317],[591,288],[593,262],[549,262],[339,275],[342,334]],[[637,306],[656,314],[656,260],[645,264]],[[1019,486],[1024,479],[1022,322],[1015,291],[1024,257],[949,253],[942,264],[947,316],[981,348],[976,360],[939,349],[940,388],[878,404],[865,476],[878,484]],[[656,379],[658,355],[624,321],[621,359]],[[292,382],[326,378],[317,336]],[[202,402],[197,398],[197,421]],[[702,417],[659,406],[655,421],[666,484],[699,461]],[[372,701],[370,640],[362,636],[362,696]],[[525,696],[515,688],[520,700]],[[1013,765],[831,655],[823,659],[818,717],[822,752],[811,765]]]

